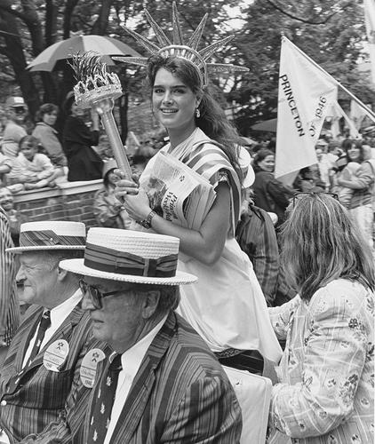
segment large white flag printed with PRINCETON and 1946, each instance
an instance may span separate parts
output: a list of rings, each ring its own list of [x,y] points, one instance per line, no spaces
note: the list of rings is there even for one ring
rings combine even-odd
[[[317,163],[315,143],[327,110],[337,99],[337,94],[337,83],[331,76],[283,37],[277,107],[276,178],[291,183],[291,178],[301,168]]]

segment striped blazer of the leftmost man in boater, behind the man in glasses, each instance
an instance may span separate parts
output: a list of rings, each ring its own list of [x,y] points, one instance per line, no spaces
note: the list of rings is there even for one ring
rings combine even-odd
[[[68,396],[79,387],[81,361],[91,343],[90,315],[76,307],[52,335],[32,364],[22,371],[22,361],[42,307],[32,306],[26,313],[4,361],[0,377],[0,425],[11,440],[19,441],[30,433],[36,434],[65,416]],[[59,372],[44,368],[44,350],[57,339],[69,345],[67,361]],[[64,427],[65,434],[70,432]],[[62,433],[62,434],[64,434]],[[48,441],[52,442],[52,441]]]

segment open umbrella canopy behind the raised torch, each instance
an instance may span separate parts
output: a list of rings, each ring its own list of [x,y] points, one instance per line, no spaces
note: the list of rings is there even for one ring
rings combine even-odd
[[[71,59],[77,52],[97,52],[103,61],[114,65],[110,56],[135,56],[140,54],[116,38],[107,36],[75,36],[48,46],[28,64],[30,71],[52,71],[59,60]]]

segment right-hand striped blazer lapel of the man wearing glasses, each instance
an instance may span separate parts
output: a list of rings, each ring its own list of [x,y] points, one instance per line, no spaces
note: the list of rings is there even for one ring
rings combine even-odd
[[[144,409],[155,382],[156,369],[168,349],[176,327],[176,317],[170,313],[164,326],[148,348],[140,369],[134,378],[124,408],[118,418],[110,442],[128,442],[140,424]]]

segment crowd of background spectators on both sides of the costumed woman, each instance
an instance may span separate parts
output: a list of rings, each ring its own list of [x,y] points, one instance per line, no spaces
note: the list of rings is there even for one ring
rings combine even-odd
[[[64,103],[64,112],[67,119],[62,137],[54,127],[58,107],[51,103],[39,108],[37,123],[32,135],[28,135],[23,125],[27,113],[24,100],[20,97],[6,100],[0,151],[2,194],[11,200],[14,193],[58,186],[61,181],[102,178],[103,185],[93,205],[98,226],[131,229],[132,220],[115,196],[116,161],[108,136],[100,131],[99,116],[84,115],[84,110],[76,107],[72,93]],[[164,135],[146,134],[138,141],[129,155],[134,174],[140,175],[148,160],[164,146]],[[267,136],[262,136],[259,143],[244,139],[251,140],[246,150],[251,155],[255,181],[244,190],[247,198],[243,199],[236,239],[251,258],[267,305],[277,306],[295,296],[279,263],[278,242],[279,227],[294,194],[322,191],[337,194],[372,246],[371,184],[375,178],[375,162],[371,158],[375,138],[371,133],[357,140],[341,134],[332,138],[330,131],[325,131],[315,146],[317,163],[299,170],[292,185],[286,186],[274,176],[275,138],[271,133]],[[13,221],[12,235],[17,236],[19,222],[15,221],[14,214],[9,213],[9,217]]]

